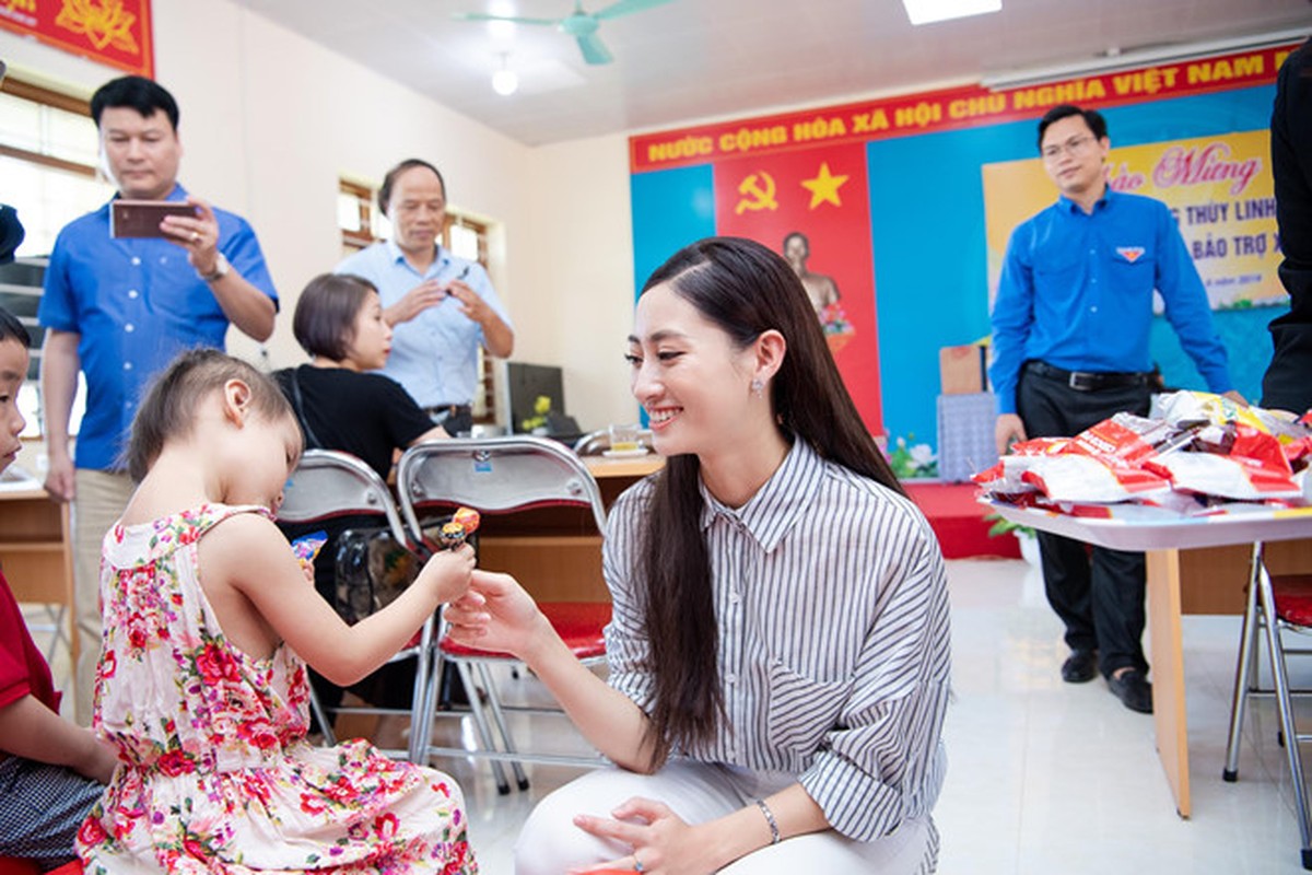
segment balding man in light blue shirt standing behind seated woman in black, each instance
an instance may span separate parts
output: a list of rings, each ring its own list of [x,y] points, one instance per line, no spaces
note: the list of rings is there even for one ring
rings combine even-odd
[[[392,239],[337,265],[371,282],[392,325],[383,373],[457,436],[474,424],[479,348],[499,358],[514,349],[514,329],[487,272],[438,243],[446,224],[446,182],[436,167],[407,159],[383,177],[378,206]]]

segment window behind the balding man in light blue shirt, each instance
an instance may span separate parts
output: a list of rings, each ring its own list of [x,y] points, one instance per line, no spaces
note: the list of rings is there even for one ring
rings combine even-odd
[[[392,228],[391,222],[378,209],[378,190],[354,182],[340,180],[337,189],[337,227],[341,230],[342,257],[359,252],[365,247],[386,239]],[[488,224],[471,219],[461,213],[446,211],[446,227],[442,230],[442,247],[453,254],[470,261],[478,261],[484,270],[488,266]],[[474,399],[474,421],[496,421],[496,391],[492,378],[493,369],[483,350],[479,350],[479,378],[483,384],[483,397]]]

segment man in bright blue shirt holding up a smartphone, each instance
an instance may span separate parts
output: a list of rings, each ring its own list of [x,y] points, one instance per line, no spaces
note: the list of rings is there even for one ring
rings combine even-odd
[[[46,489],[72,501],[81,635],[76,666],[77,720],[88,723],[100,655],[100,550],[131,496],[119,466],[136,403],[151,378],[181,350],[223,349],[228,325],[257,341],[273,333],[278,296],[260,241],[237,215],[211,207],[177,182],[182,144],[178,109],[163,87],[140,76],[102,85],[91,100],[114,201],[68,223],[46,269],[38,317],[42,407],[50,471]],[[112,236],[112,207],[133,201],[144,227]],[[159,205],[157,220],[151,203]],[[176,207],[188,205],[178,215]],[[151,226],[154,224],[154,228]],[[68,425],[79,371],[87,411],[76,460]]]

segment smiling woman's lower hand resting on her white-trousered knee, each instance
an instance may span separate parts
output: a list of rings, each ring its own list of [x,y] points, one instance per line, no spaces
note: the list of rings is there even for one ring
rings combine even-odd
[[[635,796],[610,813],[614,820],[579,815],[575,817],[575,826],[598,838],[632,845],[634,853],[597,866],[571,870],[571,875],[632,870],[635,859],[642,861],[642,871],[648,875],[702,875],[720,867],[720,863],[706,857],[714,847],[714,841],[698,836],[701,828],[686,824],[665,803]]]

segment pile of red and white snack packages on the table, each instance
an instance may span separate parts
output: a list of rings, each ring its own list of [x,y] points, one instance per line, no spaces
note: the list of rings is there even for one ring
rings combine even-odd
[[[1302,418],[1207,392],[1158,397],[1073,438],[1015,443],[972,479],[994,501],[1126,521],[1312,505],[1312,411]]]

